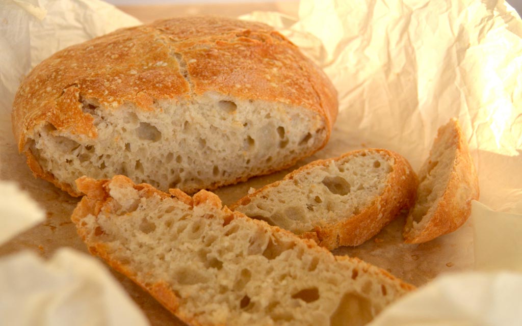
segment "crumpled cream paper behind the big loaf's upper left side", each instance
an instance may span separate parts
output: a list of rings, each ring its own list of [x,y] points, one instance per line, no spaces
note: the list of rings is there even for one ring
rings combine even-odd
[[[0,0],[0,110],[8,113],[21,78],[43,59],[140,21],[100,0]]]

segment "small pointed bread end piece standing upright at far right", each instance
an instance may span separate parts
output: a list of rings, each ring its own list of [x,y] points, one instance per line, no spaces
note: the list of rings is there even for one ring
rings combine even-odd
[[[404,228],[410,244],[457,230],[471,214],[471,200],[479,199],[477,173],[456,118],[438,129],[419,178],[417,200]]]

